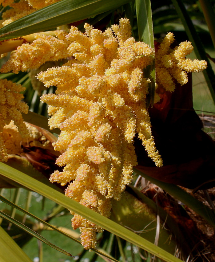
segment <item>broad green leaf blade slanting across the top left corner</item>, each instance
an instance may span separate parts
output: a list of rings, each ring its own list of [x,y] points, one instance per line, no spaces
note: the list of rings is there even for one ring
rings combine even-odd
[[[17,38],[116,9],[130,0],[62,0],[0,29],[0,40]]]

